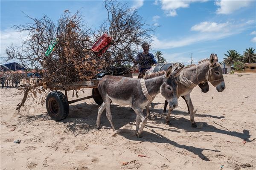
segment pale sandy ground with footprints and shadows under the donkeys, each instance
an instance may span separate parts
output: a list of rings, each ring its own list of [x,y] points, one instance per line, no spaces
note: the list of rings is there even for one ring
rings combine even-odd
[[[221,93],[212,85],[207,94],[198,86],[192,91],[198,109],[195,121],[201,128],[191,127],[182,98],[166,125],[159,94],[151,109],[154,120],[148,121],[140,139],[134,131],[136,114],[128,106],[111,105],[113,122],[123,129],[111,136],[105,114],[103,128],[96,129],[99,106],[93,99],[72,104],[67,119],[55,122],[45,105],[26,102],[26,111],[18,114],[15,105],[22,96],[7,97],[16,89],[0,89],[0,169],[256,169],[256,74],[238,75],[224,75],[226,89]],[[79,95],[91,95],[91,89],[84,92]]]

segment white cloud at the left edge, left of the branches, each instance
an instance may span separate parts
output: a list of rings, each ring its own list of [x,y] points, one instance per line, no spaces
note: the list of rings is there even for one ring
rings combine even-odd
[[[20,46],[23,40],[28,37],[28,32],[24,31],[22,34],[16,32],[14,29],[0,30],[0,55],[6,56],[6,47],[11,45]]]

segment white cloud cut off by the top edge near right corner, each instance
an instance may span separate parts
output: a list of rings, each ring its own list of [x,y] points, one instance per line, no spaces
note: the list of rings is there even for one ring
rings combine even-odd
[[[234,11],[250,6],[250,3],[253,3],[253,0],[217,0],[215,2],[216,6],[220,6],[217,9],[217,14],[231,14]]]

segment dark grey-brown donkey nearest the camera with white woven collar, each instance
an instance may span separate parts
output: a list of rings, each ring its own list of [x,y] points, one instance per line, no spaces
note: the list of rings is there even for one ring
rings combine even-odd
[[[115,127],[112,122],[110,111],[110,103],[113,101],[119,105],[131,105],[131,108],[137,114],[136,117],[136,136],[140,134],[146,125],[147,119],[143,115],[143,108],[151,102],[152,97],[161,93],[169,102],[169,108],[175,109],[178,105],[177,101],[177,77],[182,71],[181,68],[172,69],[170,66],[167,71],[157,74],[151,74],[151,79],[135,79],[120,76],[105,76],[98,84],[99,94],[101,94],[103,103],[99,107],[97,116],[97,129],[100,127],[100,117],[104,109],[111,124],[113,131]],[[142,125],[140,126],[140,120]]]

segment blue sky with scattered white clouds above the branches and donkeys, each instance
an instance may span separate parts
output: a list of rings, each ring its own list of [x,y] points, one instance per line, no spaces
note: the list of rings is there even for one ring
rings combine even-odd
[[[255,0],[128,0],[132,8],[149,25],[159,26],[150,42],[150,52],[160,50],[168,62],[191,62],[217,54],[222,61],[230,49],[243,54],[246,48],[256,48]],[[31,17],[44,14],[56,21],[64,10],[80,10],[84,22],[97,28],[106,18],[101,0],[1,0],[0,35],[2,57],[6,45],[20,45],[26,34],[18,34],[11,27],[30,23],[22,11]],[[135,56],[134,56],[135,57]],[[2,61],[0,61],[2,62]]]

